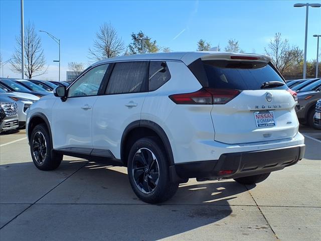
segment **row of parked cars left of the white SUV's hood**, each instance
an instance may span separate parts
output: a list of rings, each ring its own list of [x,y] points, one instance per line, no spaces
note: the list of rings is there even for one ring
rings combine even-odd
[[[26,114],[32,103],[52,94],[66,82],[0,78],[0,133],[26,126]]]

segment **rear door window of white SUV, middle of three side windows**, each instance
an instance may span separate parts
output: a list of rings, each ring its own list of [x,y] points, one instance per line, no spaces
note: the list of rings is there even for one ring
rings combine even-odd
[[[115,63],[106,94],[136,93],[146,91],[148,62]]]

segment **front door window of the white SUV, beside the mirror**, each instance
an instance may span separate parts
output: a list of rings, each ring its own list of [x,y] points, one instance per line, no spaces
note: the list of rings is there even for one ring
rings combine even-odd
[[[68,90],[68,97],[97,95],[108,64],[99,65],[84,73]]]

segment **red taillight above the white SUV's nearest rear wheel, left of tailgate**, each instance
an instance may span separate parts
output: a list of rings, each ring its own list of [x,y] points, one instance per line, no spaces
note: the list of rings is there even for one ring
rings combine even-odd
[[[196,92],[173,94],[169,97],[177,104],[226,104],[239,93],[236,89],[201,88]]]

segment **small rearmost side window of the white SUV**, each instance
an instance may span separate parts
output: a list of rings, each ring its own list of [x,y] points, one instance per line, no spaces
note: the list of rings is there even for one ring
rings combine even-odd
[[[171,78],[166,62],[150,61],[148,89],[153,91],[165,84]]]

